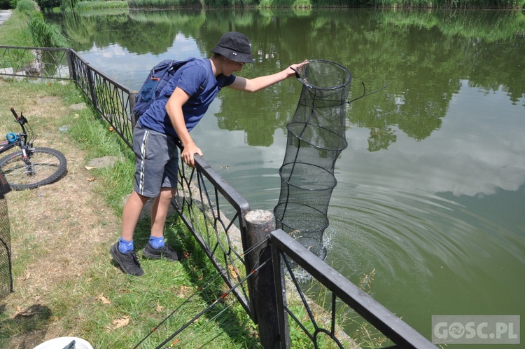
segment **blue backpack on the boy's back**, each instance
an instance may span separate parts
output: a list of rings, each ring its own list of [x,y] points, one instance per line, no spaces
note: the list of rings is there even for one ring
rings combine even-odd
[[[155,65],[137,94],[137,102],[135,102],[135,106],[133,107],[135,117],[139,118],[148,110],[153,101],[159,97],[160,91],[162,91],[162,88],[165,87],[177,69],[193,60],[197,60],[197,58],[189,58],[188,60],[163,60]],[[204,83],[204,85],[205,84],[206,83]],[[200,88],[202,90],[204,86]]]

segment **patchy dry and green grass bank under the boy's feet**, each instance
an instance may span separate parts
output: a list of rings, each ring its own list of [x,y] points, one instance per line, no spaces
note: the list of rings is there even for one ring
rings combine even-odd
[[[180,307],[141,346],[154,348],[214,304],[225,290],[176,217],[169,219],[165,235],[189,258],[178,264],[143,260],[147,275],[143,278],[125,275],[111,263],[107,251],[119,235],[123,197],[131,190],[133,156],[91,109],[67,107],[83,102],[72,87],[0,83],[7,97],[0,102],[0,130],[13,127],[8,113],[13,105],[30,123],[34,121],[40,135],[37,145],[54,139],[53,147],[69,160],[68,175],[57,183],[8,193],[15,293],[2,302],[0,348],[22,348],[22,342],[36,345],[66,335],[86,338],[97,348],[133,348]],[[68,125],[66,135],[57,131],[62,125]],[[85,169],[91,158],[109,155],[125,160],[105,169]],[[92,182],[87,180],[91,176]],[[28,207],[31,212],[25,212]],[[148,218],[140,221],[139,247],[148,238],[149,224]],[[175,339],[193,348],[195,343],[202,348],[206,343],[217,348],[258,345],[253,323],[230,297],[188,324]]]

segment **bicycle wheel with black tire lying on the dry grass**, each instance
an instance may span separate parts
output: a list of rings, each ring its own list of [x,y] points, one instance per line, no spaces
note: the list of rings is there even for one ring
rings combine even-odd
[[[34,189],[59,179],[66,171],[64,154],[51,148],[34,148],[30,157],[31,168],[22,159],[22,151],[10,153],[0,160],[0,169],[14,190]]]

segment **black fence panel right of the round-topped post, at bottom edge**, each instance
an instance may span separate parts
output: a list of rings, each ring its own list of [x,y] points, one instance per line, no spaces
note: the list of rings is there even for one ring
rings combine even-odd
[[[276,293],[288,295],[288,303],[283,297],[277,297],[281,327],[279,333],[288,333],[288,328],[282,325],[286,324],[285,317],[288,317],[290,322],[295,322],[295,325],[304,331],[315,348],[323,348],[323,345],[333,348],[333,345],[330,347],[327,342],[339,348],[356,348],[353,346],[356,343],[353,343],[352,338],[347,338],[341,329],[349,327],[350,320],[357,314],[388,338],[389,342],[395,343],[388,348],[435,348],[435,345],[381,306],[363,289],[346,280],[284,231],[273,231],[270,244],[275,279],[290,280],[276,283]],[[301,287],[306,284],[315,289],[316,294],[323,295],[321,301],[314,304],[309,301]],[[349,306],[350,309],[345,309],[345,306]],[[321,311],[319,307],[323,307]],[[363,325],[361,322],[359,324]],[[381,338],[372,338],[372,335],[367,338],[365,331],[361,331],[360,336],[361,341],[376,341],[370,343],[375,348],[388,343],[383,343]],[[283,338],[288,340],[289,336]],[[280,348],[290,348],[286,340],[281,342]]]

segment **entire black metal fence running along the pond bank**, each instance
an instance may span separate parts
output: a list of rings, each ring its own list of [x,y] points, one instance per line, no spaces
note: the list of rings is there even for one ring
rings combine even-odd
[[[63,53],[63,57],[57,52]],[[27,77],[27,71],[24,72],[20,67],[48,55],[56,59],[47,58],[45,63],[37,64],[40,67],[38,78],[72,79],[92,102],[94,109],[132,147],[132,131],[136,122],[132,109],[136,93],[92,67],[75,51],[0,46],[0,75]],[[49,62],[59,65],[51,68],[52,63]],[[62,67],[66,63],[68,69]],[[60,75],[64,71],[68,71],[69,75]],[[288,323],[304,334],[304,340],[311,342],[315,348],[324,347],[325,344],[328,345],[326,348],[351,348],[355,343],[346,335],[344,321],[351,312],[360,315],[390,340],[381,343],[395,343],[392,348],[435,348],[412,327],[283,231],[274,231],[265,237],[269,239],[272,249],[271,263],[267,264],[267,268],[274,270],[274,273],[270,273],[274,280],[269,280],[269,283],[276,285],[274,294],[277,304],[269,306],[276,306],[278,321],[274,323],[262,316],[258,317],[253,308],[255,292],[249,291],[253,287],[249,283],[251,279],[248,278],[248,286],[238,285],[239,281],[252,273],[246,261],[246,254],[253,249],[246,238],[245,216],[250,210],[246,200],[204,159],[196,156],[195,167],[181,165],[179,168],[179,193],[173,204],[211,262],[223,275],[225,283],[233,289],[246,313],[260,328],[269,327],[275,332],[274,338],[279,343],[274,343],[272,348],[290,348],[293,345],[290,343]],[[304,273],[307,273],[307,280],[316,280],[318,290],[325,289],[325,292],[332,294],[328,306],[314,306],[306,296],[307,292],[302,289],[305,283],[299,280],[297,273],[302,275],[303,280]],[[295,303],[290,299],[298,301]],[[257,301],[265,302],[267,299]],[[291,303],[295,306],[290,306]],[[339,305],[349,310],[338,312],[336,308]],[[314,308],[316,310],[312,310]],[[372,345],[381,346],[381,343]]]

